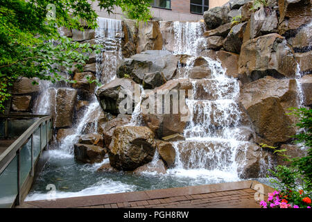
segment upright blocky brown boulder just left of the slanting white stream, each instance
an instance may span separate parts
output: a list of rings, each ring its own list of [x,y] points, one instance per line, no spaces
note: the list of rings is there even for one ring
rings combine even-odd
[[[59,88],[55,99],[55,127],[71,128],[77,101],[77,90]]]

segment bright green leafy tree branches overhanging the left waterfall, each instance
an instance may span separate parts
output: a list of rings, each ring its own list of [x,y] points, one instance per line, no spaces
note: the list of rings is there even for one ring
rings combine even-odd
[[[91,0],[95,2],[95,0]],[[149,0],[98,0],[102,10],[121,7],[132,18],[149,19]],[[137,9],[137,10],[134,10]],[[0,112],[17,78],[62,80],[61,71],[83,67],[92,48],[60,36],[58,27],[96,28],[96,12],[87,0],[0,0]],[[69,71],[70,72],[70,71]]]

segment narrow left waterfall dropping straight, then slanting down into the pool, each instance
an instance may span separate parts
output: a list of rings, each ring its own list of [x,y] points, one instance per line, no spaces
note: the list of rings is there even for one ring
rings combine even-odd
[[[116,68],[118,62],[122,59],[121,35],[121,20],[98,18],[95,42],[103,46],[101,53],[96,54],[96,79],[99,83],[110,83],[116,77]],[[97,88],[98,86],[96,86]],[[78,142],[79,136],[84,133],[90,119],[95,121],[92,131],[97,133],[97,122],[101,112],[102,110],[96,100],[96,96],[93,95],[91,102],[85,109],[83,118],[76,123],[74,134],[68,135],[63,139],[60,149],[73,154],[73,144]]]

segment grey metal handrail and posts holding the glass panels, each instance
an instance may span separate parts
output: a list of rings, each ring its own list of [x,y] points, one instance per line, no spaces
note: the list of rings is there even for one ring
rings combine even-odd
[[[13,142],[8,148],[6,148],[6,150],[0,155],[0,175],[1,173],[6,169],[6,167],[8,167],[8,165],[10,164],[10,162],[17,157],[17,187],[18,187],[18,193],[17,193],[17,198],[15,199],[15,202],[17,203],[17,205],[19,205],[20,201],[21,201],[21,188],[24,187],[24,184],[26,181],[21,182],[20,181],[20,160],[19,160],[19,153],[21,151],[21,149],[23,148],[24,144],[26,144],[29,139],[31,139],[31,171],[29,172],[31,174],[31,176],[34,175],[34,164],[35,161],[34,160],[34,156],[33,156],[33,149],[34,149],[34,144],[33,144],[33,137],[34,137],[34,133],[35,130],[37,130],[38,128],[40,128],[40,152],[42,151],[42,149],[44,147],[47,148],[50,140],[51,140],[51,129],[49,130],[49,134],[48,134],[48,123],[51,123],[51,128],[53,126],[53,117],[48,116],[48,115],[32,115],[32,114],[3,114],[0,115],[0,118],[4,117],[4,118],[21,118],[21,117],[41,117],[40,119],[37,119],[29,128],[27,128],[27,130],[25,130],[25,132],[19,136],[15,142]],[[45,126],[46,126],[46,132],[45,132],[45,139],[46,141],[44,142],[44,144],[42,144],[42,123],[45,122]]]

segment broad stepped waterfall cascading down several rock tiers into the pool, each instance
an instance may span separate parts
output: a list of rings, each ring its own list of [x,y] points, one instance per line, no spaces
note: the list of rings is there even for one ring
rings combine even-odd
[[[164,25],[162,25],[164,26]],[[186,55],[178,64],[177,76],[189,78],[200,50],[205,49],[204,24],[201,22],[173,22],[175,44],[173,54]],[[187,99],[191,120],[184,129],[185,141],[173,142],[175,167],[168,173],[182,176],[239,180],[245,155],[236,161],[239,152],[246,152],[248,142],[241,136],[239,82],[228,77],[220,62],[202,57],[211,69],[210,78],[190,79],[193,99]],[[247,127],[245,127],[247,128]]]

